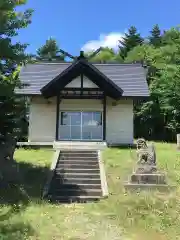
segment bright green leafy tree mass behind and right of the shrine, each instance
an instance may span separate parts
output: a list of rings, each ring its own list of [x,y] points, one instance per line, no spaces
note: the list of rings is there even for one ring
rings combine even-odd
[[[152,44],[135,47],[125,61],[145,60],[148,66],[151,96],[146,103],[135,104],[136,136],[172,140],[180,132],[179,28],[166,31],[162,40],[159,47]]]

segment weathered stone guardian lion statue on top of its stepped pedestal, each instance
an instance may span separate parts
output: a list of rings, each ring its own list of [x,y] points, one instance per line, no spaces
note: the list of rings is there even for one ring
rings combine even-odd
[[[156,152],[153,144],[147,145],[145,139],[137,140],[138,172],[152,173],[156,171]]]

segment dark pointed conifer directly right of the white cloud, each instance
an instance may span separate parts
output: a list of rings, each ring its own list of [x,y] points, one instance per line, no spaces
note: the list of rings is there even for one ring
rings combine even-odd
[[[134,26],[131,26],[128,29],[128,33],[125,33],[125,36],[122,40],[119,41],[119,54],[122,59],[127,57],[129,51],[134,47],[143,43],[143,38],[137,33],[137,29]]]

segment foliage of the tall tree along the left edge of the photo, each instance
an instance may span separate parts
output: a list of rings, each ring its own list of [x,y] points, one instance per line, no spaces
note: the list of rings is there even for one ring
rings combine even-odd
[[[12,38],[31,23],[32,9],[17,11],[18,6],[25,3],[26,0],[0,1],[0,135],[4,137],[8,133],[17,133],[24,110],[24,100],[16,98],[14,88],[20,86],[18,65],[27,58],[24,52],[27,44],[13,43]]]

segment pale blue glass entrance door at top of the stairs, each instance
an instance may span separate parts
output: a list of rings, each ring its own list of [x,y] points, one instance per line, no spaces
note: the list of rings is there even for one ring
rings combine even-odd
[[[59,130],[59,140],[102,140],[102,112],[61,112]]]

